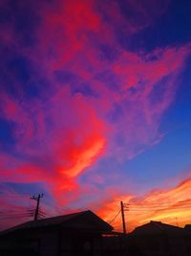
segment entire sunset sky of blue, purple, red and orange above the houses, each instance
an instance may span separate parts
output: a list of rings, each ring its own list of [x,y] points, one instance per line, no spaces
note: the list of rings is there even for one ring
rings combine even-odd
[[[0,1],[0,229],[91,209],[128,232],[191,207],[191,2]],[[128,209],[127,209],[128,208]],[[128,211],[127,211],[128,210]]]

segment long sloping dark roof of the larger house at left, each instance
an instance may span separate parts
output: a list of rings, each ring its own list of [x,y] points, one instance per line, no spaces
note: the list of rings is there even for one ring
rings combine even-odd
[[[18,230],[28,230],[33,228],[44,228],[51,226],[63,226],[66,228],[92,229],[95,231],[108,232],[112,231],[113,227],[106,221],[100,219],[92,211],[83,211],[73,214],[61,215],[52,218],[47,218],[38,221],[27,221],[19,225],[0,232],[0,235],[12,233]]]

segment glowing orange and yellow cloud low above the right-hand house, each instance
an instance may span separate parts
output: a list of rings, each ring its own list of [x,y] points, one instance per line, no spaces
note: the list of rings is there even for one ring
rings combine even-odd
[[[191,178],[184,180],[180,185],[163,190],[154,190],[143,198],[126,195],[114,198],[98,211],[105,221],[114,220],[120,209],[120,201],[129,203],[129,210],[125,211],[127,231],[149,221],[162,221],[183,227],[190,223],[191,207]],[[121,231],[121,215],[119,214],[111,225]]]

